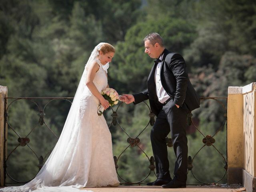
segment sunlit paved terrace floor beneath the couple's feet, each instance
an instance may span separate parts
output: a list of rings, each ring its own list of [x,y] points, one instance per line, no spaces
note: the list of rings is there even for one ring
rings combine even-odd
[[[158,186],[118,186],[102,188],[84,188],[93,192],[246,192],[246,189],[238,186],[216,187],[216,186],[187,186],[187,188],[163,189]]]

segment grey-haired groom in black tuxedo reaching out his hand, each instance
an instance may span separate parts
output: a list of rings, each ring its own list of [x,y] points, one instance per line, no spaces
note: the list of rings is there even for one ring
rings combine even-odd
[[[186,137],[186,115],[199,107],[200,99],[192,87],[182,56],[164,48],[157,33],[144,38],[145,53],[156,58],[148,76],[148,89],[138,94],[124,94],[127,104],[138,104],[149,100],[150,108],[156,114],[150,139],[156,161],[157,179],[149,186],[162,188],[186,187],[188,168],[188,140]],[[171,132],[176,155],[174,178],[169,172],[169,161],[165,138]]]

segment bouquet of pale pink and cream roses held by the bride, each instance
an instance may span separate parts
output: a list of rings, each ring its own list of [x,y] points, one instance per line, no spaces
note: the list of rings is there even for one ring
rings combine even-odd
[[[102,96],[109,102],[110,106],[118,104],[118,93],[113,88],[106,88],[100,92]],[[102,115],[104,107],[100,104],[98,106],[98,115]]]

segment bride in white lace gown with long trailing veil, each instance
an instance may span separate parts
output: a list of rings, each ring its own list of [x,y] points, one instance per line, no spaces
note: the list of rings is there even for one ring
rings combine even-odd
[[[107,69],[115,48],[98,44],[85,66],[60,138],[36,177],[0,192],[77,192],[78,188],[118,186],[111,134],[97,108],[109,103],[100,94],[108,87]],[[120,96],[120,100],[125,100]]]

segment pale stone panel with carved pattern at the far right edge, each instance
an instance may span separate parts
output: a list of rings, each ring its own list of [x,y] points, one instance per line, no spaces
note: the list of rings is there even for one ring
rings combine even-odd
[[[256,191],[256,83],[243,87],[244,96],[244,187]]]

